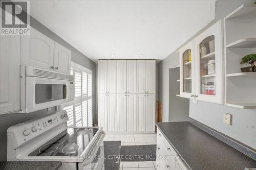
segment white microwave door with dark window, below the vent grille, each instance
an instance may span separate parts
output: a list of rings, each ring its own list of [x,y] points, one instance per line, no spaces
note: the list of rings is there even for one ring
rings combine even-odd
[[[70,102],[70,81],[26,77],[26,113]]]

